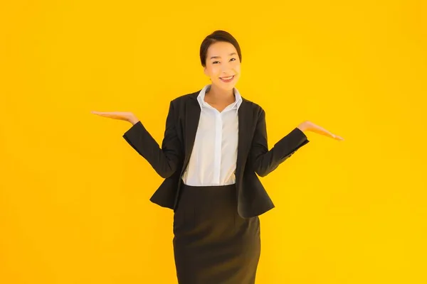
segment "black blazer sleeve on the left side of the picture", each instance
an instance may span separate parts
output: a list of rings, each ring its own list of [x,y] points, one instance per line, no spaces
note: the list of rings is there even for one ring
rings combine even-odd
[[[181,142],[176,133],[176,116],[172,102],[166,119],[162,148],[142,125],[141,121],[127,130],[123,138],[142,155],[162,177],[169,178],[177,170],[182,158]]]

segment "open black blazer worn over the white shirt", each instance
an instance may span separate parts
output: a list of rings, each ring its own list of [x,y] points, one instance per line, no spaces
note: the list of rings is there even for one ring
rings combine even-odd
[[[123,135],[127,143],[165,179],[150,201],[174,211],[179,200],[181,176],[189,163],[196,138],[201,113],[197,102],[200,91],[185,94],[170,102],[162,148],[141,121]],[[238,109],[236,195],[238,214],[249,218],[274,207],[256,174],[261,177],[268,175],[309,141],[300,129],[295,128],[268,151],[265,111],[258,104],[243,97],[242,100]]]

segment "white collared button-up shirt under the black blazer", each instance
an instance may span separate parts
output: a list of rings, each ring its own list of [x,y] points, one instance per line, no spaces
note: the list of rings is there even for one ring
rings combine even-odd
[[[233,185],[236,183],[238,108],[241,94],[233,89],[235,102],[219,112],[204,101],[211,84],[201,89],[197,101],[201,113],[193,151],[182,180],[191,186]]]

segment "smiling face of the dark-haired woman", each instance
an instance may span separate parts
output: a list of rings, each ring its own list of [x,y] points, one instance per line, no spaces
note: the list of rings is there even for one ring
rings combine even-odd
[[[241,62],[234,45],[224,41],[212,43],[206,53],[204,73],[219,89],[233,89],[241,74]]]

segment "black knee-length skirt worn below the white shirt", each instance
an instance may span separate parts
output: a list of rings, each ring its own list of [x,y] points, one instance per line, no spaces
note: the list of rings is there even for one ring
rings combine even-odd
[[[174,213],[179,284],[253,284],[260,220],[237,212],[236,185],[182,185]]]

